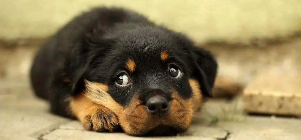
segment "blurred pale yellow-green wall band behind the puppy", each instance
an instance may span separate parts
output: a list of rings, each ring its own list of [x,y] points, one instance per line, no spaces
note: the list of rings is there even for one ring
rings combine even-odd
[[[0,40],[48,37],[95,6],[136,10],[197,43],[248,43],[301,30],[300,0],[1,0]]]

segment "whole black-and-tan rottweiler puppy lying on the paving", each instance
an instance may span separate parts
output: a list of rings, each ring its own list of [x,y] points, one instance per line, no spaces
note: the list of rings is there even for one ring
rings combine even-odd
[[[36,53],[33,90],[86,130],[175,135],[212,96],[217,62],[182,33],[123,8],[73,18]]]

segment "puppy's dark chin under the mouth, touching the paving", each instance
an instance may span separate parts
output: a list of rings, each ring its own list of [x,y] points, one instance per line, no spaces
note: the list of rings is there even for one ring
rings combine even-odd
[[[145,134],[141,134],[140,136],[147,136],[147,137],[175,136],[178,133],[183,133],[185,131],[186,129],[160,125],[147,131]]]

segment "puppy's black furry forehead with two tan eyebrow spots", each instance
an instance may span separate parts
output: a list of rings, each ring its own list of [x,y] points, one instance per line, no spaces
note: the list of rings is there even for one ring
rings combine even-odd
[[[122,60],[120,65],[126,65],[129,71],[160,68],[170,59],[183,58],[184,50],[171,33],[134,31],[120,36],[112,52],[113,59]]]

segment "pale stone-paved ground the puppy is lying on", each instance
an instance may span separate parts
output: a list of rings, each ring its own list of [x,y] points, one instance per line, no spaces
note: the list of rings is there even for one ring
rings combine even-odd
[[[27,78],[0,81],[1,140],[185,139],[300,140],[301,121],[271,116],[245,116],[239,98],[209,101],[185,134],[138,138],[123,133],[83,130],[78,121],[48,113],[47,102],[33,96]]]

